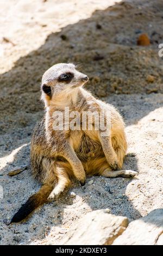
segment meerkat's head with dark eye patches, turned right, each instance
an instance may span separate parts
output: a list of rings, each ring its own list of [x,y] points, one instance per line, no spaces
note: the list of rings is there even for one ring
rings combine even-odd
[[[84,85],[89,78],[76,70],[74,64],[59,63],[49,68],[42,76],[42,99],[55,100],[59,94],[70,94]]]

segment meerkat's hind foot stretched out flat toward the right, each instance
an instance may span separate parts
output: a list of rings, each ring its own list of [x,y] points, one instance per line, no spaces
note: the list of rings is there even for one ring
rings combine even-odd
[[[105,169],[101,175],[107,178],[116,178],[122,176],[123,178],[131,178],[137,174],[134,170],[109,170]]]

